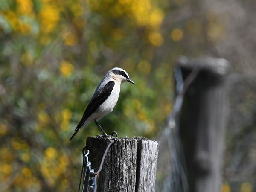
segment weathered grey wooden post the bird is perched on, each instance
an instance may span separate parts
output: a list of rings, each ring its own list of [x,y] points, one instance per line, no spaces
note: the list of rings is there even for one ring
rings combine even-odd
[[[96,172],[114,140],[97,180],[98,192],[154,192],[158,144],[144,137],[88,137],[89,161]]]

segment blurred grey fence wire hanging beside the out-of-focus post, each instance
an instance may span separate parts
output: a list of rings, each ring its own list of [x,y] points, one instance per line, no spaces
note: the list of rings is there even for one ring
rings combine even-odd
[[[185,157],[179,136],[179,118],[186,90],[198,76],[199,70],[200,68],[194,67],[186,79],[183,79],[180,67],[174,69],[176,81],[174,105],[167,118],[167,126],[158,140],[159,160],[164,158],[160,161],[163,164],[158,163],[158,168],[165,167],[165,173],[164,178],[157,182],[158,190],[156,191],[189,192]]]

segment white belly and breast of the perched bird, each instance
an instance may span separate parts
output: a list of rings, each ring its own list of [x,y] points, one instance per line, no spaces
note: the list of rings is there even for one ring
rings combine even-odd
[[[113,108],[116,106],[119,93],[120,86],[118,86],[118,84],[115,84],[110,96],[108,96],[108,99],[106,99],[105,102],[103,102],[102,105],[100,105],[99,108],[96,110],[96,113],[98,113],[96,119],[99,120],[103,116],[113,111]]]

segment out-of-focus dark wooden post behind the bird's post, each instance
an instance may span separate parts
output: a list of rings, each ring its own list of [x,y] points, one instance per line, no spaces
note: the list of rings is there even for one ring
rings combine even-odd
[[[189,192],[221,191],[229,64],[221,58],[183,57],[177,65],[184,79],[194,67],[199,68],[185,94],[180,114]]]

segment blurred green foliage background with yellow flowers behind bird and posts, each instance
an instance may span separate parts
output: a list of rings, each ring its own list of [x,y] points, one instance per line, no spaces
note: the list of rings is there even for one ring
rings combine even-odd
[[[256,1],[1,0],[0,192],[76,191],[93,123],[69,141],[108,70],[121,67],[108,134],[157,140],[180,55],[231,65],[222,192],[256,191]]]

